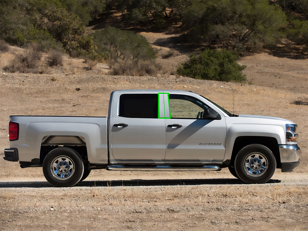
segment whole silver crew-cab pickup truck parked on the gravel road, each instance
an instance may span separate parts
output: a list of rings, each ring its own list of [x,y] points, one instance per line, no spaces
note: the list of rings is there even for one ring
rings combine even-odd
[[[191,91],[113,91],[108,118],[10,116],[5,160],[43,167],[54,186],[91,169],[219,171],[265,183],[276,168],[299,164],[297,125],[276,117],[234,115]]]

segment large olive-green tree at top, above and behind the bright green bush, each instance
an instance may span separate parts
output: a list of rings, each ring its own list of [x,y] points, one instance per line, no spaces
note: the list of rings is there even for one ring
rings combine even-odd
[[[191,40],[236,50],[258,50],[285,37],[286,14],[269,1],[191,1],[182,10],[183,27]]]

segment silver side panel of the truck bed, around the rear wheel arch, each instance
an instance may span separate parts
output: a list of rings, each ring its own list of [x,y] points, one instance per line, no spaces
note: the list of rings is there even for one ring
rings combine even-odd
[[[19,124],[19,139],[10,142],[17,148],[19,161],[39,158],[45,136],[81,136],[87,145],[91,164],[107,164],[107,118],[59,116],[10,116]]]

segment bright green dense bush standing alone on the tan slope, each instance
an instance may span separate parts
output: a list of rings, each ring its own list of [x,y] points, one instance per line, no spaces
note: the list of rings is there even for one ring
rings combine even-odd
[[[237,59],[238,55],[233,51],[205,50],[199,55],[191,55],[177,73],[194,79],[243,82],[246,77],[242,70],[246,66],[239,65]]]

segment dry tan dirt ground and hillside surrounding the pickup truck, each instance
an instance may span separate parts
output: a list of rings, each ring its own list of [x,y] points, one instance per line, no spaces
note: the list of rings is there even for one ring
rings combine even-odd
[[[153,35],[154,36],[154,35]],[[159,35],[148,40],[168,39]],[[151,40],[152,38],[152,40]],[[1,68],[14,57],[0,56]],[[17,49],[17,48],[14,48]],[[161,58],[176,68],[187,54]],[[16,51],[17,52],[17,51]],[[196,80],[168,73],[111,76],[105,64],[85,71],[82,59],[66,57],[49,74],[6,73],[0,69],[1,230],[308,230],[307,59],[261,53],[241,58],[250,84]],[[274,83],[274,84],[273,84]],[[282,117],[298,124],[301,164],[291,173],[277,169],[266,184],[243,184],[220,172],[122,172],[92,170],[72,188],[54,188],[41,168],[4,161],[9,115],[107,116],[111,91],[191,90],[234,113]],[[306,105],[305,105],[306,104]]]

